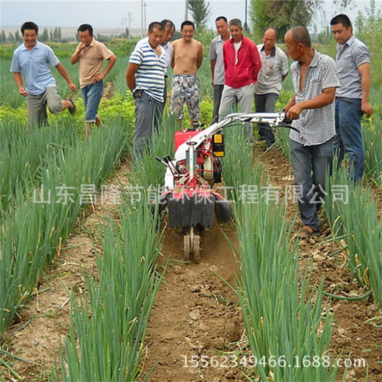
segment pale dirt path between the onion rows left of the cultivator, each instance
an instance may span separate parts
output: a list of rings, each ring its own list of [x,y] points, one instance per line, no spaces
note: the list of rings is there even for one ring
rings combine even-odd
[[[127,172],[129,167],[124,163],[110,184],[127,184]],[[29,361],[14,363],[13,368],[19,375],[39,382],[48,380],[54,363],[59,361],[60,341],[63,343],[69,333],[69,296],[72,292],[84,293],[84,274],[97,275],[92,240],[95,238],[98,249],[101,227],[116,207],[98,202],[81,216],[65,247],[59,250],[54,263],[41,278],[37,294],[19,312],[18,322],[10,327],[5,341],[9,351]],[[2,372],[5,370],[0,369],[0,380]]]

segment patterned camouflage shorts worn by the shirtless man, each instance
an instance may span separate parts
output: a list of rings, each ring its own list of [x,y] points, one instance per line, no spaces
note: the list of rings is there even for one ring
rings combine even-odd
[[[183,118],[183,104],[186,102],[189,117],[200,121],[199,78],[196,74],[174,74],[170,113],[176,119]]]

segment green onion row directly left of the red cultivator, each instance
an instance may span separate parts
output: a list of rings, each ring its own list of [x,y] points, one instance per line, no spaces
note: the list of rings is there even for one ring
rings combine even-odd
[[[160,249],[158,204],[147,203],[147,189],[162,183],[164,168],[155,156],[173,154],[176,121],[166,120],[150,148],[127,174],[128,183],[142,186],[142,200],[128,198],[109,220],[97,253],[99,282],[87,278],[89,296],[71,297],[70,335],[61,352],[61,370],[53,380],[137,380],[146,326],[161,281],[155,273]],[[143,239],[144,238],[144,239]]]

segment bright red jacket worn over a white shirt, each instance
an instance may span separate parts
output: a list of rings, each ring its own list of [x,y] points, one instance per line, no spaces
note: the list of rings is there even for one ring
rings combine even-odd
[[[237,59],[237,65],[235,65],[235,46],[231,38],[223,45],[225,85],[238,89],[256,83],[257,73],[261,68],[261,59],[256,44],[242,36]]]

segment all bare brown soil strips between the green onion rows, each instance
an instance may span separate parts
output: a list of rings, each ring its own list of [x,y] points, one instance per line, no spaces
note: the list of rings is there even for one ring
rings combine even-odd
[[[255,155],[261,155],[264,168],[269,170],[272,185],[293,184],[291,169],[280,150],[265,154],[257,147]],[[122,165],[110,183],[126,182],[129,171]],[[60,338],[69,328],[69,293],[84,293],[83,271],[97,272],[91,234],[97,236],[104,217],[113,213],[113,206],[96,205],[94,211],[77,225],[54,264],[41,279],[37,294],[20,311],[20,318],[7,333],[6,347],[10,352],[29,363],[5,359],[25,380],[48,380],[51,367],[59,357]],[[293,219],[296,205],[288,204],[288,217]],[[299,222],[297,219],[296,222]],[[296,224],[295,229],[299,228]],[[350,279],[345,264],[345,254],[338,253],[338,242],[325,242],[329,234],[323,224],[323,235],[301,241],[302,267],[313,266],[313,282],[325,277],[325,290],[336,294],[363,294]],[[234,251],[227,238],[237,244],[233,225],[214,225],[206,229],[201,241],[200,264],[182,262],[182,232],[166,229],[162,256],[158,269],[169,259],[165,279],[160,287],[147,329],[145,354],[142,359],[142,376],[149,375],[153,382],[225,382],[245,379],[239,368],[190,367],[194,356],[217,355],[241,357],[240,348],[245,345],[241,310],[236,293],[227,285],[235,285],[238,273]],[[226,280],[224,282],[222,279]],[[325,301],[329,306],[329,300]],[[334,312],[334,335],[331,348],[342,358],[364,358],[369,367],[369,380],[382,378],[382,332],[373,322],[376,305],[371,301],[337,301],[331,305]],[[380,323],[380,321],[379,321]],[[240,355],[239,355],[240,354]],[[186,363],[189,367],[183,367]],[[366,368],[351,368],[349,381],[365,380]],[[9,379],[9,371],[0,368],[0,380]],[[142,379],[143,379],[142,377]],[[253,376],[254,380],[256,375]],[[338,376],[341,380],[341,374]]]

